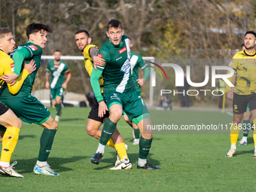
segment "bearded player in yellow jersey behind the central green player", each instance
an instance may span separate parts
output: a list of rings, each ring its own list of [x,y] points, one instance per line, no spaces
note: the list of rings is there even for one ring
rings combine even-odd
[[[75,42],[78,49],[84,54],[84,65],[89,75],[93,72],[93,61],[103,64],[105,63],[104,59],[100,59],[97,56],[99,48],[96,45],[90,44],[91,40],[92,39],[86,30],[78,30],[78,32],[75,32]],[[101,91],[103,91],[102,76],[99,78],[99,85],[101,87]],[[106,111],[104,117],[99,117],[99,103],[95,102],[87,118],[87,133],[99,140],[102,135],[102,130],[99,129],[99,126],[101,126],[102,123],[105,123],[108,116],[108,111]],[[116,165],[120,163],[120,160],[127,158],[123,137],[120,135],[117,128],[111,136],[111,139],[109,139],[107,145],[117,150],[119,157],[117,156]]]

